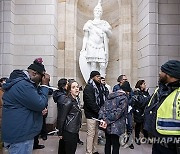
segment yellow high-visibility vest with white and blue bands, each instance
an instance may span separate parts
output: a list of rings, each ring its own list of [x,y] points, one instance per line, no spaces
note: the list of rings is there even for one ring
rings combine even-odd
[[[157,91],[155,90],[155,93]],[[158,108],[156,130],[162,135],[180,135],[180,87],[174,90]]]

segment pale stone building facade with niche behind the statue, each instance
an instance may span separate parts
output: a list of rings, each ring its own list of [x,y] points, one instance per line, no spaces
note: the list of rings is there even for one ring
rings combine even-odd
[[[98,0],[0,0],[0,77],[26,69],[42,57],[51,85],[61,77],[85,85],[78,59],[83,25],[93,19]],[[180,60],[180,0],[103,0],[103,17],[112,26],[107,83],[126,74],[132,86],[145,79],[150,92],[159,67]],[[52,98],[50,98],[52,99]],[[55,122],[49,103],[47,122]]]

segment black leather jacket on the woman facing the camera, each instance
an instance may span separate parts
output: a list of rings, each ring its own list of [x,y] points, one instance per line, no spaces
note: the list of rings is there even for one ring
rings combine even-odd
[[[59,109],[59,136],[62,136],[63,131],[70,133],[78,133],[81,127],[82,113],[78,107],[78,102],[71,96],[64,100],[61,108]]]

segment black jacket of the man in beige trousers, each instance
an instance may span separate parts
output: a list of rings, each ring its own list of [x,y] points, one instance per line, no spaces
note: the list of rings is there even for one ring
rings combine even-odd
[[[87,119],[98,118],[100,106],[96,103],[95,89],[87,84],[83,91],[84,113]]]

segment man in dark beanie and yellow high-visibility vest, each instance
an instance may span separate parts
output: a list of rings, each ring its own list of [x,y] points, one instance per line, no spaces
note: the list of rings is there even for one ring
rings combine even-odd
[[[145,109],[145,129],[152,134],[152,154],[179,154],[180,61],[161,66],[159,85]]]

